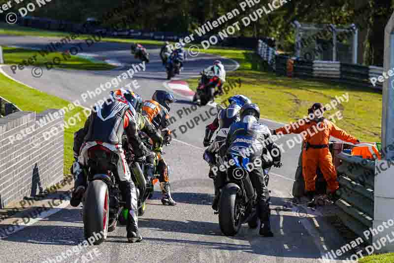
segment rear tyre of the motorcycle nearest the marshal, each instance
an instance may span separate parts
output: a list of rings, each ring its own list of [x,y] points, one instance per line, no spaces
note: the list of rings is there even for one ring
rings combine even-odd
[[[241,227],[241,215],[236,214],[236,199],[236,193],[226,189],[220,194],[219,225],[222,233],[227,236],[234,236]]]

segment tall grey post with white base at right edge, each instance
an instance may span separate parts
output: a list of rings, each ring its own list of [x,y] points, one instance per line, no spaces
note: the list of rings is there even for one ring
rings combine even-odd
[[[384,71],[388,72],[394,67],[394,13],[385,28]],[[374,189],[374,220],[373,227],[382,229],[387,221],[394,220],[394,167],[390,165],[394,160],[394,76],[383,83],[383,109],[382,109],[382,151],[383,159],[376,161],[375,189]],[[379,228],[378,228],[379,227]],[[373,236],[376,243],[380,238],[389,235],[393,238],[394,226],[383,227],[383,231]],[[381,252],[394,252],[394,242],[387,243],[379,250]]]

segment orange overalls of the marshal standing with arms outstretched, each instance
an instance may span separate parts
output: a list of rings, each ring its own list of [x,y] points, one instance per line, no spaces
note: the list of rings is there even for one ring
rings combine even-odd
[[[327,181],[329,192],[339,188],[336,181],[336,171],[332,163],[332,156],[328,149],[330,136],[349,143],[357,143],[357,139],[338,128],[326,118],[319,120],[302,119],[291,125],[275,130],[276,134],[302,134],[304,138],[302,153],[302,175],[306,191],[315,191],[316,170],[320,167]]]

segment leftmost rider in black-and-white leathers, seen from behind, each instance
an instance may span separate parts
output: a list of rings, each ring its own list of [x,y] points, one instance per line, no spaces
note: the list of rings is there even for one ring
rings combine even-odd
[[[139,242],[142,236],[138,231],[137,195],[134,183],[130,180],[131,173],[126,162],[125,151],[122,148],[122,135],[127,135],[128,141],[134,151],[136,162],[144,162],[144,146],[137,133],[135,121],[135,97],[133,92],[120,89],[115,92],[111,102],[103,103],[95,107],[92,114],[85,122],[84,128],[74,134],[74,156],[78,161],[74,163],[73,174],[75,186],[70,204],[78,206],[87,186],[87,175],[83,172],[88,166],[88,150],[98,144],[118,154],[117,174],[120,179],[119,188],[122,199],[125,200],[125,208],[129,209],[130,216],[127,225],[127,238],[129,242]],[[78,169],[78,166],[82,166]]]

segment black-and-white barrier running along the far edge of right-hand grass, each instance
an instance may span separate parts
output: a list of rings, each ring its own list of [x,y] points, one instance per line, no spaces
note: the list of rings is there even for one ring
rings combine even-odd
[[[272,62],[269,65],[277,75],[318,78],[382,90],[383,82],[377,81],[373,85],[370,80],[372,77],[378,78],[382,75],[383,68],[381,67],[368,67],[358,64],[341,63],[339,61],[308,61],[283,54],[274,55],[272,58],[272,50],[269,50],[267,44],[259,40],[257,53],[261,56],[262,63]]]

